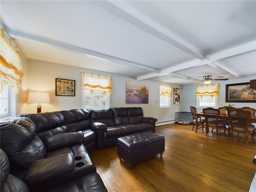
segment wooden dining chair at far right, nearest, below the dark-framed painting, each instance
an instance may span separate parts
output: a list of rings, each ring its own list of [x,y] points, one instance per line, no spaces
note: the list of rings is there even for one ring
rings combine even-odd
[[[255,142],[255,128],[249,125],[251,116],[252,113],[250,111],[242,108],[228,110],[228,118],[230,120],[230,141],[233,140],[233,133],[238,132],[245,134],[244,139],[246,145],[248,145],[249,134],[252,136],[249,140],[253,140]]]

